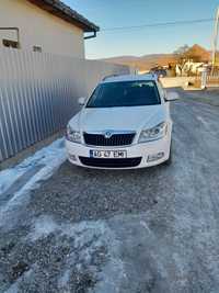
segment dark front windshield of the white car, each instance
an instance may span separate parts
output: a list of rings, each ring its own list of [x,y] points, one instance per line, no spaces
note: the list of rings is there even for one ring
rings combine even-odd
[[[119,81],[99,84],[87,108],[141,106],[160,103],[154,81]]]

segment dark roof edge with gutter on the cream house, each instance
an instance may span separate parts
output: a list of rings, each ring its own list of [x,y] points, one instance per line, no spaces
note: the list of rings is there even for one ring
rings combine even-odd
[[[49,13],[81,27],[84,32],[100,31],[100,27],[97,25],[90,22],[88,19],[79,14],[77,11],[74,11],[60,0],[28,0],[28,1],[46,10]]]

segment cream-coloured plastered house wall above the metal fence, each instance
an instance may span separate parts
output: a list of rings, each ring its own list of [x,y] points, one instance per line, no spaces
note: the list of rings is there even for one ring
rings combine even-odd
[[[33,52],[41,46],[44,53],[84,58],[83,31],[26,0],[0,0],[0,27],[20,29],[21,49]],[[16,41],[13,31],[0,31],[2,38]]]

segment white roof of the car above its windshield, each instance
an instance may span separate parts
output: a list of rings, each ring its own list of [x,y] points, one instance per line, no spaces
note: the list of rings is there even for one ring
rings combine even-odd
[[[124,76],[117,76],[117,75],[113,75],[113,76],[108,76],[105,77],[101,83],[107,83],[107,82],[119,82],[119,81],[141,81],[141,80],[153,80],[157,81],[158,77],[155,75],[152,74],[147,74],[147,75],[124,75]]]

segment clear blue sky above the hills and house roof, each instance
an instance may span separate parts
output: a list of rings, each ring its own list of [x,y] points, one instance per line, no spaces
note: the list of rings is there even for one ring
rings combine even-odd
[[[219,0],[62,0],[101,29],[215,16]],[[85,41],[87,58],[171,53],[199,44],[210,49],[212,23],[100,32]]]

